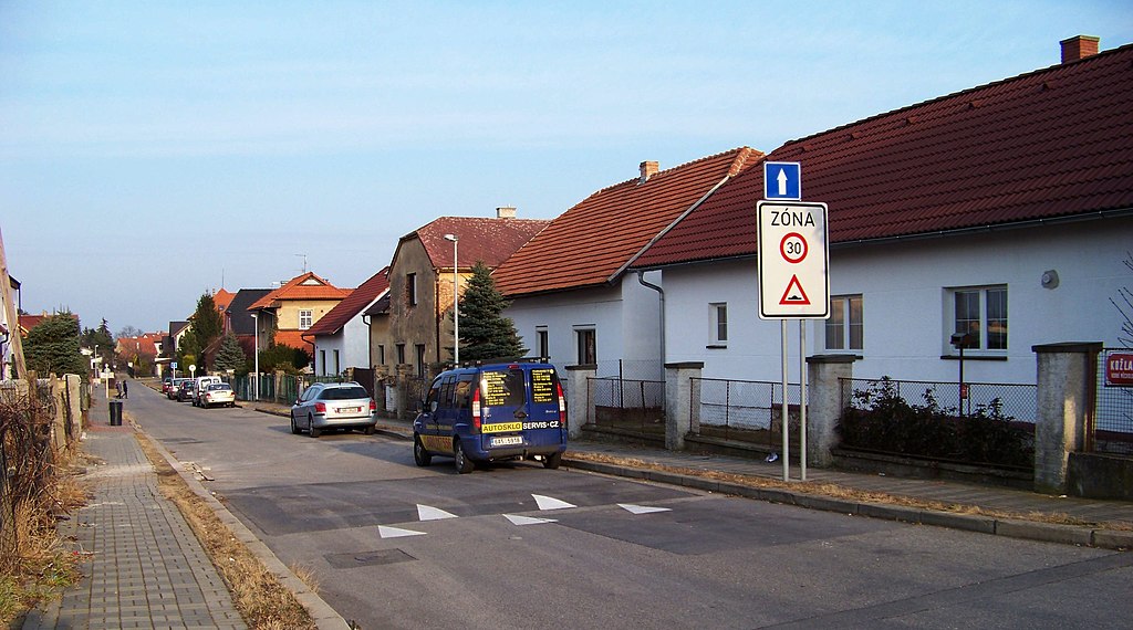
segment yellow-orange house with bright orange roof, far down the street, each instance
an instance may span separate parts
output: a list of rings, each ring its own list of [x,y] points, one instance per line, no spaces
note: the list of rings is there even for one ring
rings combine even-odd
[[[349,294],[349,288],[339,288],[307,271],[256,300],[247,310],[256,316],[259,349],[287,345],[312,354],[313,345],[303,334]]]

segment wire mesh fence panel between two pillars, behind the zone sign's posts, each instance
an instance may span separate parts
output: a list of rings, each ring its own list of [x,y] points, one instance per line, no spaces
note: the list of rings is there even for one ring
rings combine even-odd
[[[692,433],[783,447],[783,383],[692,379]],[[699,392],[697,396],[696,392]],[[799,383],[787,383],[787,426],[798,440]]]

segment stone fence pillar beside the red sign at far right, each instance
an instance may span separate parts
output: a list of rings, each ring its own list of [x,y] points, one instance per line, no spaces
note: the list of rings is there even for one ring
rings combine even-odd
[[[1038,415],[1034,418],[1034,490],[1066,493],[1070,454],[1085,447],[1093,414],[1100,342],[1031,346],[1038,362]]]

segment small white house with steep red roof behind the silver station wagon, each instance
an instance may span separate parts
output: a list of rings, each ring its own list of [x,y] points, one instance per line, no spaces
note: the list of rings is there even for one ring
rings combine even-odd
[[[303,334],[315,346],[315,374],[339,376],[347,368],[369,369],[370,325],[367,309],[390,292],[390,268],[374,274]]]

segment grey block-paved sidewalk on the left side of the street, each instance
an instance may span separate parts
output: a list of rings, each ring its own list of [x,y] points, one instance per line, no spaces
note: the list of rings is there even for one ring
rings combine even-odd
[[[117,628],[246,628],[232,597],[129,425],[109,426],[96,396],[83,449],[105,464],[85,480],[94,498],[60,533],[88,555],[84,577],[46,610],[28,613],[24,630]]]

